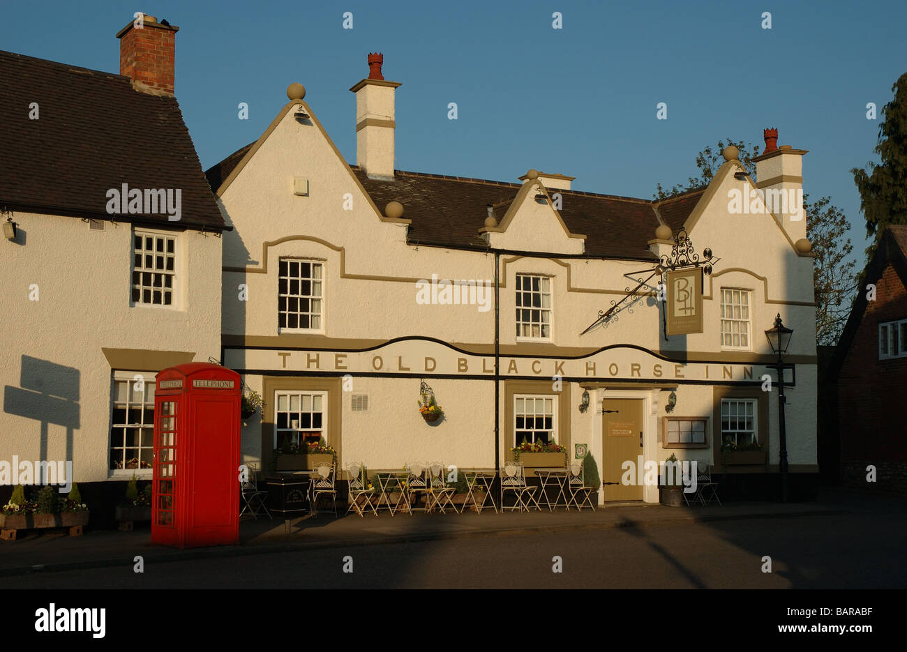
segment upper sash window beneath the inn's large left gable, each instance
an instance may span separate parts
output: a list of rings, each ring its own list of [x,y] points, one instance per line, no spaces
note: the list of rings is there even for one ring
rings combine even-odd
[[[323,266],[312,260],[280,258],[278,326],[287,330],[322,329]]]

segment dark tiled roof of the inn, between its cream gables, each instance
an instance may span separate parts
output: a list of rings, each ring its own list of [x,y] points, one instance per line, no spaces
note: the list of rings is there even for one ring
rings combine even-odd
[[[230,154],[206,172],[211,188],[217,190],[250,143]],[[356,165],[350,169],[379,210],[390,201],[404,206],[404,218],[412,220],[411,243],[487,248],[479,229],[488,217],[488,206],[499,221],[520,190],[520,183],[450,177],[441,174],[395,170],[394,180],[369,179]],[[586,236],[585,252],[602,258],[651,258],[647,244],[655,238],[658,205],[662,218],[677,231],[702,197],[697,189],[660,203],[649,199],[600,195],[579,190],[551,189],[561,194],[561,217],[571,233]]]

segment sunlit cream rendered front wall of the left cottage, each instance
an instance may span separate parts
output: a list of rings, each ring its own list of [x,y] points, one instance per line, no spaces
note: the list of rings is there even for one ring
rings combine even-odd
[[[0,326],[5,334],[0,460],[11,461],[13,455],[41,459],[43,418],[52,422],[47,425],[46,459],[72,459],[76,482],[107,480],[112,370],[102,348],[194,352],[202,361],[219,357],[221,240],[212,233],[176,232],[180,306],[131,307],[129,224],[107,223],[99,231],[81,219],[18,212],[15,221],[19,236],[15,243],[4,240],[0,257]],[[37,301],[29,300],[33,284]],[[51,367],[51,375],[43,378],[44,392],[50,394],[47,407],[32,417],[14,414],[23,367],[34,368],[24,365],[26,356],[61,365],[63,385],[73,386],[73,393],[54,398],[62,390]],[[71,413],[77,418],[66,416]],[[69,435],[60,422],[73,426]]]

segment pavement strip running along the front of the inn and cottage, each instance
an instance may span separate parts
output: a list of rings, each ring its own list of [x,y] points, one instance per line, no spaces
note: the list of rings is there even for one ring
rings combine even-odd
[[[872,510],[879,501],[904,501],[899,496],[834,489],[820,493],[818,501],[800,503],[732,502],[697,507],[664,507],[648,503],[609,504],[596,511],[532,511],[496,514],[397,513],[360,518],[355,514],[335,518],[318,514],[296,519],[287,533],[282,520],[243,519],[239,545],[176,550],[151,545],[151,527],[132,532],[86,530],[81,537],[64,530],[29,530],[15,541],[0,541],[0,577],[38,571],[131,566],[141,555],[144,562],[168,562],[249,554],[268,554],[342,546],[382,545],[468,537],[505,537],[550,534],[561,530],[646,528],[687,522],[740,519],[796,519],[816,515]]]

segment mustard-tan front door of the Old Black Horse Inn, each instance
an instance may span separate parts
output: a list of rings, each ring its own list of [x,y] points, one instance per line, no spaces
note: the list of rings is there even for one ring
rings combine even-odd
[[[641,501],[641,484],[636,483],[636,467],[642,455],[642,409],[639,398],[606,398],[601,403],[601,482],[606,501]],[[624,485],[623,462],[633,462],[634,484]]]

